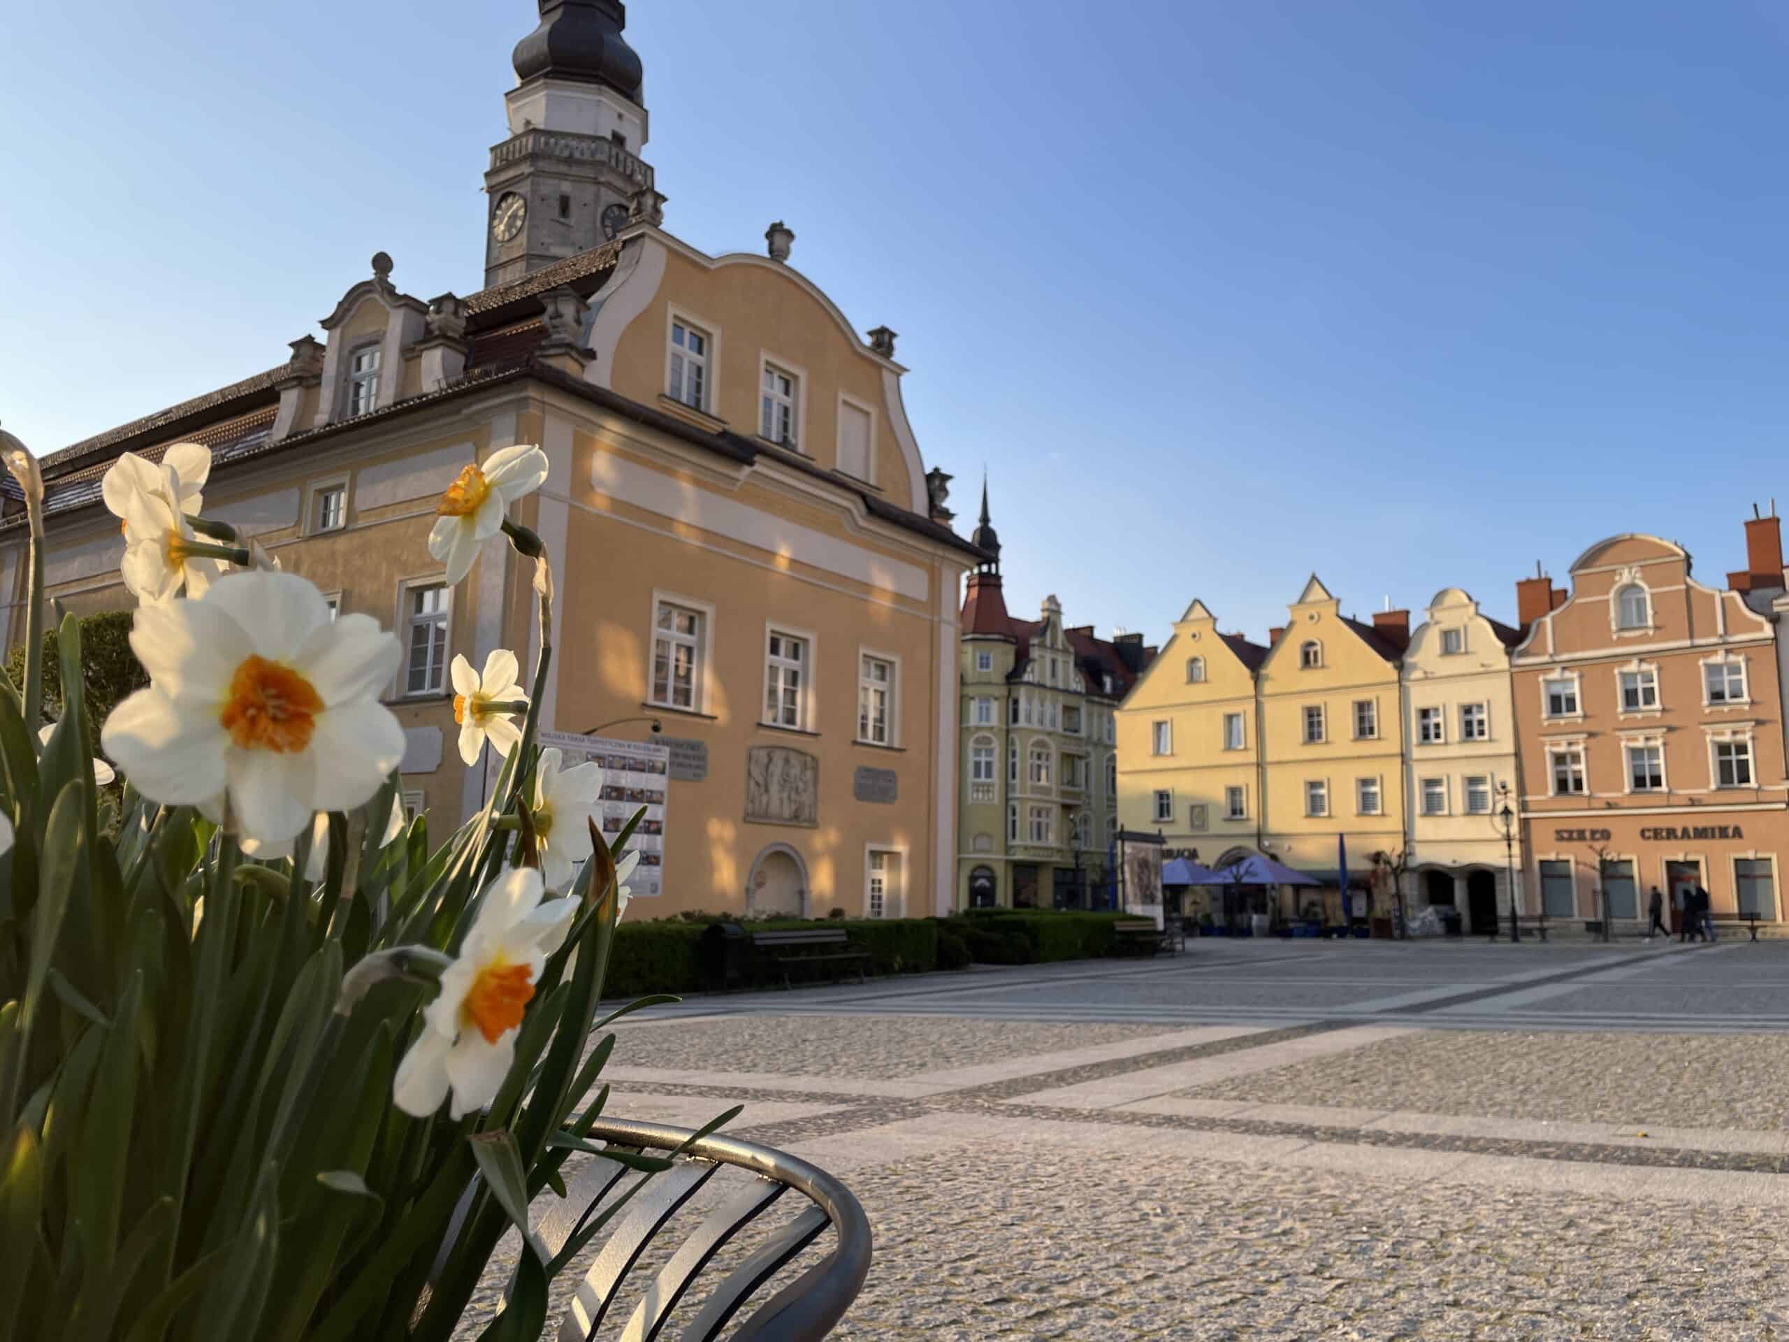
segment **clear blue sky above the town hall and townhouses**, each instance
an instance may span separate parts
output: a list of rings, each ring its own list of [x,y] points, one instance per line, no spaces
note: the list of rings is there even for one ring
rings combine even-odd
[[[0,48],[0,419],[50,451],[277,363],[386,249],[479,286],[530,0],[23,4]],[[1513,617],[1612,531],[1742,564],[1789,422],[1771,4],[633,0],[707,251],[796,231],[900,331],[1009,605],[1254,637]]]

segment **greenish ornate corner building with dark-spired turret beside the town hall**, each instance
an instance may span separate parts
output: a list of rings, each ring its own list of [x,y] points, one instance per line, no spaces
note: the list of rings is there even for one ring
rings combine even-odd
[[[1115,709],[1154,648],[1068,626],[1054,596],[1007,614],[982,487],[961,648],[962,850],[957,907],[1088,907],[1107,882],[1118,816]]]

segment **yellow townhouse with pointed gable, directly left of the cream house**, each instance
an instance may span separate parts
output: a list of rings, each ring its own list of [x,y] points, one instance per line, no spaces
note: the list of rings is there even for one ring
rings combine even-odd
[[[1399,658],[1408,623],[1383,623],[1344,616],[1313,574],[1261,662],[1263,848],[1331,880],[1338,836],[1354,877],[1374,854],[1395,859],[1406,848]]]

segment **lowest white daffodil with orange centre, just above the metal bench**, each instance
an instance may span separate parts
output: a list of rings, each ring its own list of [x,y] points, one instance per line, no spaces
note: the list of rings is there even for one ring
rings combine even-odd
[[[485,888],[460,957],[422,1011],[422,1034],[397,1066],[392,1097],[404,1113],[426,1118],[453,1090],[449,1115],[460,1120],[497,1097],[535,979],[578,913],[576,900],[542,904],[540,895],[533,868],[506,871]]]

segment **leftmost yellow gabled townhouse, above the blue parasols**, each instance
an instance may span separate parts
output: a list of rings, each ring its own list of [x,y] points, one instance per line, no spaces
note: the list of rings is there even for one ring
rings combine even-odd
[[[1118,710],[1118,818],[1208,862],[1261,841],[1256,671],[1267,646],[1195,599]]]

